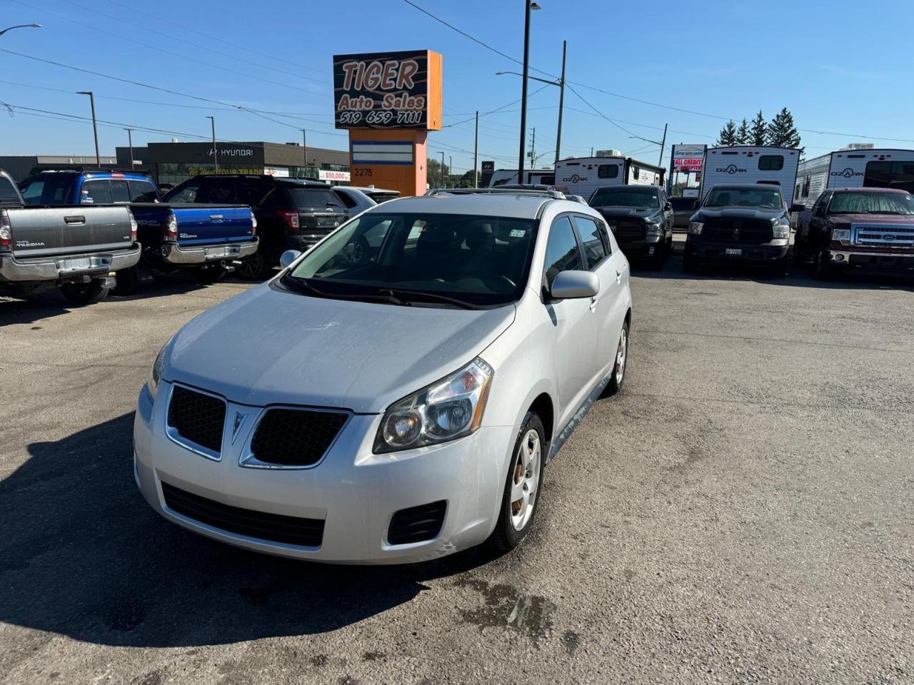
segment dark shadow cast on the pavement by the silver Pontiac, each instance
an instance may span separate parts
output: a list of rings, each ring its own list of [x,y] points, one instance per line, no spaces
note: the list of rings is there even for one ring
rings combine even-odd
[[[334,630],[495,558],[327,566],[166,522],[133,483],[133,413],[55,442],[0,482],[0,621],[103,645],[185,647]]]

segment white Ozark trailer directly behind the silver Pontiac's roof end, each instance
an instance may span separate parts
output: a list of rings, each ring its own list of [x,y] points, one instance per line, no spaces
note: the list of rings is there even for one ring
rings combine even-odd
[[[570,194],[590,199],[597,188],[612,185],[663,185],[664,171],[661,166],[639,162],[619,153],[572,157],[556,164],[556,185],[565,185]]]

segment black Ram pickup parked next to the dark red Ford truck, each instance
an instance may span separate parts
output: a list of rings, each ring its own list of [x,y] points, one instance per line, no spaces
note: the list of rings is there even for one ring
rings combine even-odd
[[[783,276],[790,237],[787,205],[777,185],[715,185],[689,221],[683,268],[755,265]]]

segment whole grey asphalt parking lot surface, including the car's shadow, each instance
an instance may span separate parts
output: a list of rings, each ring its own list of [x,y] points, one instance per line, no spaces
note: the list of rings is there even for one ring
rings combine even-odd
[[[914,682],[910,284],[636,271],[627,385],[531,537],[399,568],[239,551],[136,491],[155,353],[246,287],[0,300],[0,682]]]

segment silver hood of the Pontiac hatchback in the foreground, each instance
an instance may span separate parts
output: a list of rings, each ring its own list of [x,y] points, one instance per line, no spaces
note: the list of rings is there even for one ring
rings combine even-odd
[[[162,375],[240,404],[377,414],[472,361],[514,318],[514,305],[404,307],[264,283],[177,332]]]

